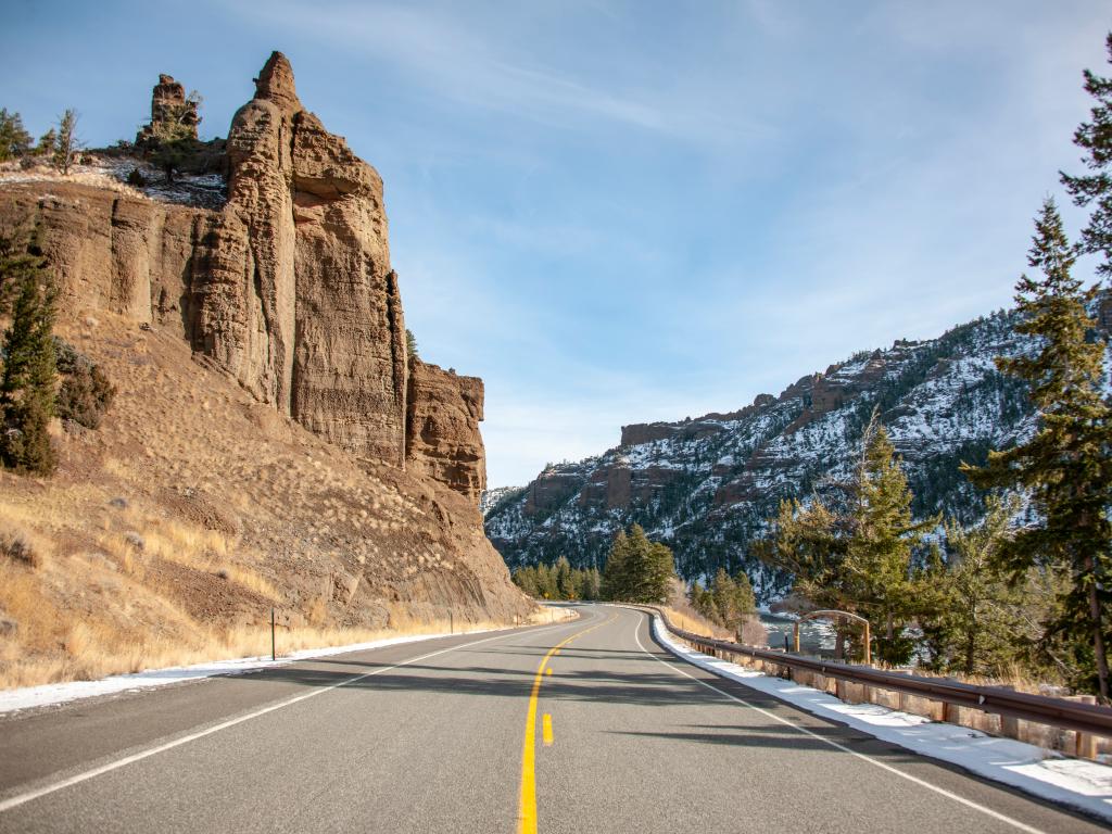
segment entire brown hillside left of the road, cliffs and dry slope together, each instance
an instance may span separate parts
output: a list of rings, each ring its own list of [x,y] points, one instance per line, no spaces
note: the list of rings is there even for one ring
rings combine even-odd
[[[3,476],[0,538],[49,554],[0,594],[28,651],[64,646],[77,599],[140,642],[270,605],[346,627],[530,610],[483,536],[483,381],[407,354],[378,173],[280,53],[256,88],[207,148],[218,173],[159,183],[119,152],[0,172],[0,228],[38,228],[58,331],[119,388],[97,431],[56,427],[53,479]],[[160,79],[153,119],[180,89]]]

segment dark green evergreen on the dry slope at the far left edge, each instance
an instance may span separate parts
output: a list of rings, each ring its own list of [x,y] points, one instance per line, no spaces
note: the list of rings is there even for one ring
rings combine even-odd
[[[11,325],[3,337],[0,376],[0,463],[49,475],[57,458],[48,428],[54,413],[54,294],[38,254],[0,245],[0,288],[13,286]],[[12,251],[16,249],[17,251]]]

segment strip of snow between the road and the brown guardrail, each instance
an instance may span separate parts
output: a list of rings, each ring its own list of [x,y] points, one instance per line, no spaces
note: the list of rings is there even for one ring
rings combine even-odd
[[[786,701],[813,715],[841,722],[913,753],[964,767],[1040,798],[1069,805],[1112,822],[1112,767],[976,729],[933,722],[876,704],[846,704],[793,681],[771,677],[688,648],[653,615],[653,635],[695,666]]]

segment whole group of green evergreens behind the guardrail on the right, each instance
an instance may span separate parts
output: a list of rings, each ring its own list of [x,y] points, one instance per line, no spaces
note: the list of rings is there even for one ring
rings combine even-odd
[[[1112,34],[1106,46],[1112,60]],[[1072,270],[1091,254],[1101,278],[1112,276],[1112,79],[1086,70],[1085,89],[1095,103],[1074,141],[1089,172],[1061,180],[1090,217],[1076,244],[1053,199],[1035,218],[1035,271],[1015,286],[1016,329],[1033,348],[996,366],[1025,384],[1037,428],[981,466],[962,464],[987,490],[982,520],[963,528],[940,516],[913,519],[912,493],[874,411],[852,476],[824,497],[782,503],[757,549],[792,573],[812,605],[868,618],[884,662],[920,652],[942,671],[1052,672],[1109,703],[1112,405],[1108,335],[1091,311],[1110,300]],[[860,654],[861,634],[840,627],[837,649]]]

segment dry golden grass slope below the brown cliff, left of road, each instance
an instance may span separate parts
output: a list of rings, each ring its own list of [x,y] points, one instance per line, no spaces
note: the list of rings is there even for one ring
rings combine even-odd
[[[456,496],[356,465],[170,332],[69,312],[119,394],[56,434],[53,478],[0,471],[0,550],[34,554],[0,553],[0,687],[269,653],[271,606],[286,651],[528,616],[471,523],[444,524]]]

